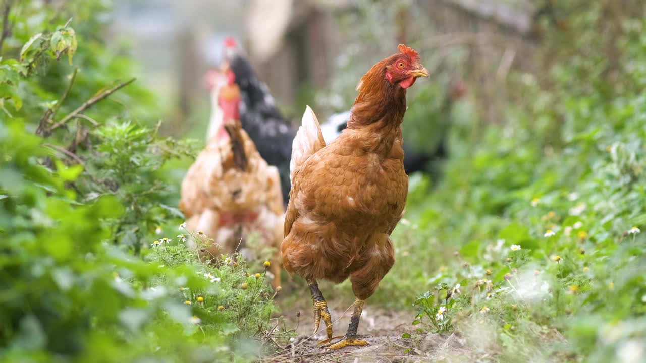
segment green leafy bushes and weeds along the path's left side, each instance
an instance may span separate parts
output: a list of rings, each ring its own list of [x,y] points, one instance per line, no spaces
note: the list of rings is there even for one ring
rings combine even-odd
[[[160,138],[159,123],[141,117],[155,109],[150,94],[114,81],[131,65],[97,37],[105,8],[25,1],[10,10],[1,49],[10,56],[0,60],[0,358],[212,362],[271,351],[256,342],[274,344],[264,271],[240,256],[204,264],[176,227],[177,237],[158,240],[183,218],[162,169],[192,156],[194,143]]]

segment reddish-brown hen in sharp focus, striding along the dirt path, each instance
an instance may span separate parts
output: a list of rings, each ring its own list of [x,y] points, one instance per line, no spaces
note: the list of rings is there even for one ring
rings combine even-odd
[[[331,344],[332,324],[317,280],[350,279],[357,300],[348,333],[333,349],[368,344],[357,337],[362,307],[395,262],[390,234],[408,192],[401,123],[406,88],[420,76],[428,77],[428,71],[417,52],[399,45],[399,53],[360,79],[339,138],[325,145],[308,106],[293,141],[282,262],[309,285],[315,332],[321,318],[326,324],[328,339],[322,343]]]

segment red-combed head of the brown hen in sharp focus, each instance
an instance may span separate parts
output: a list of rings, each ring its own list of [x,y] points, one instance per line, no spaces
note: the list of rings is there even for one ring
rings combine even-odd
[[[390,83],[397,83],[401,88],[408,88],[415,83],[418,77],[428,77],[428,70],[422,65],[419,54],[400,44],[397,47],[399,54],[386,58],[386,79]]]

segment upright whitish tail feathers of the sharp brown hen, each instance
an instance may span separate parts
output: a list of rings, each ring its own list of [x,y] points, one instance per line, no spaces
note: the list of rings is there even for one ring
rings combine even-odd
[[[294,185],[294,176],[310,156],[325,147],[321,126],[314,111],[306,107],[300,127],[291,147],[289,163],[289,180]]]

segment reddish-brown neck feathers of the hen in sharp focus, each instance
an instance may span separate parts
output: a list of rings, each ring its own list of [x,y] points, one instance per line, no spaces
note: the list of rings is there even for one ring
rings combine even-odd
[[[348,120],[348,129],[357,131],[350,133],[361,139],[357,146],[384,155],[390,153],[395,140],[401,141],[406,113],[406,89],[386,79],[390,61],[391,57],[380,61],[361,78]]]

